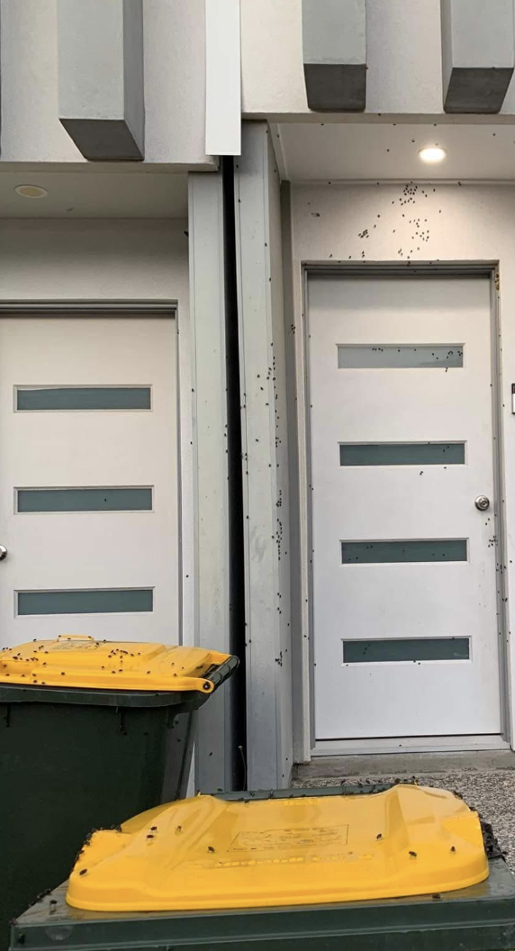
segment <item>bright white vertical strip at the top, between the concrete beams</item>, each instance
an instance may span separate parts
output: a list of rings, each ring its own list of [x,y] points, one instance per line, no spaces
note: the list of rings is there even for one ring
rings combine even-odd
[[[205,150],[241,151],[239,0],[205,0]]]

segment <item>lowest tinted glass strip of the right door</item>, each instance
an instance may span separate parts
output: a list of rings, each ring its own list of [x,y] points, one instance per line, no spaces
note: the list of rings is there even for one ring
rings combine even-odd
[[[344,664],[399,663],[423,660],[469,660],[468,637],[412,637],[344,641]]]

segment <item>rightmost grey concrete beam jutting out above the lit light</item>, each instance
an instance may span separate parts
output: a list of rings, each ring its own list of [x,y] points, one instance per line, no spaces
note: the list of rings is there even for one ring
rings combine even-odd
[[[513,0],[442,0],[446,112],[499,112],[514,64]]]

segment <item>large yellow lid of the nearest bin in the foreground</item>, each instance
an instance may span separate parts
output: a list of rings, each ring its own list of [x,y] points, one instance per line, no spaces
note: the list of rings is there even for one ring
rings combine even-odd
[[[488,864],[476,812],[450,792],[247,802],[197,796],[96,832],[67,902],[89,911],[182,911],[353,902],[452,891]]]

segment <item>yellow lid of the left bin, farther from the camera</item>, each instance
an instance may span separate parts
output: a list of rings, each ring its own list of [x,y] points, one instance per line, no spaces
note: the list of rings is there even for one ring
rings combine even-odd
[[[214,684],[208,671],[229,656],[204,648],[62,634],[54,641],[31,641],[2,650],[0,684],[211,693]]]

